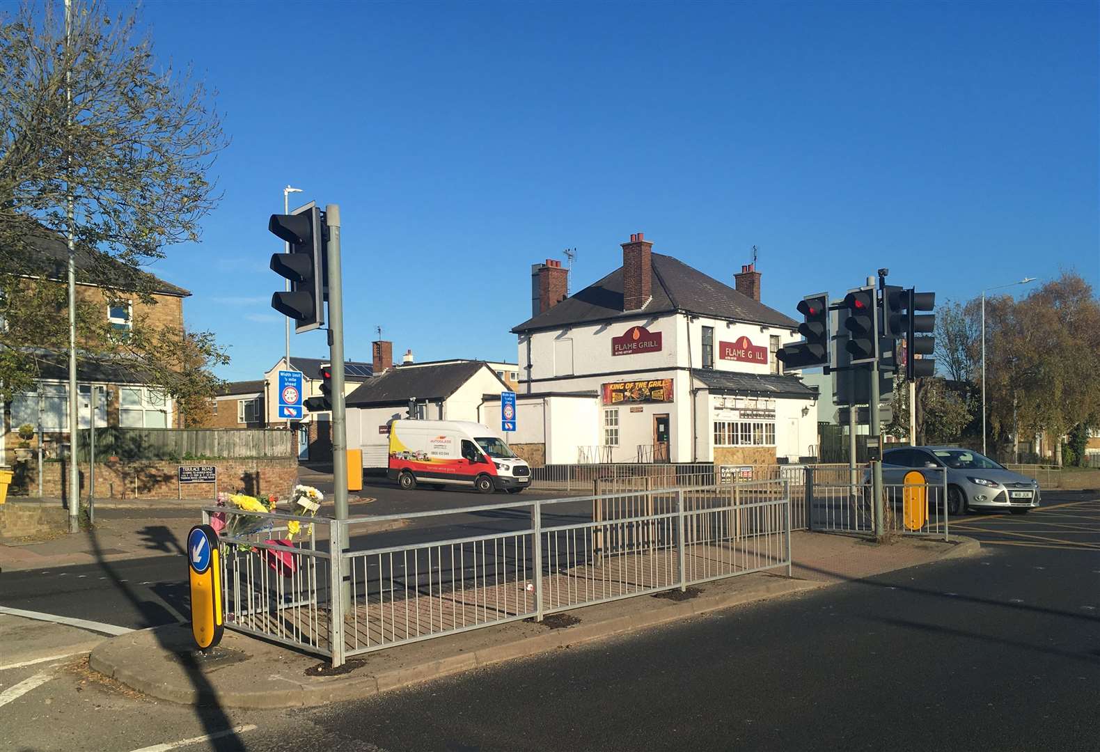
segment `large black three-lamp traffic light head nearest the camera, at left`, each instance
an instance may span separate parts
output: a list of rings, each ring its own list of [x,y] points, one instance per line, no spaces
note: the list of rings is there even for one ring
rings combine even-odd
[[[324,222],[321,210],[307,203],[290,214],[272,214],[267,230],[290,246],[273,253],[272,270],[290,280],[289,292],[272,295],[272,308],[295,320],[298,334],[324,324]]]

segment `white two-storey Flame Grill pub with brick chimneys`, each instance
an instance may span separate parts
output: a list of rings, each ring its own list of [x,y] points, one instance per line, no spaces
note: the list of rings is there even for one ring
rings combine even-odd
[[[565,275],[557,262],[532,266],[532,316],[512,330],[520,384],[507,435],[528,458],[770,465],[815,454],[817,391],[776,358],[801,339],[798,322],[760,302],[754,266],[729,287],[637,233],[603,279],[566,297]],[[499,398],[485,399],[492,424]]]

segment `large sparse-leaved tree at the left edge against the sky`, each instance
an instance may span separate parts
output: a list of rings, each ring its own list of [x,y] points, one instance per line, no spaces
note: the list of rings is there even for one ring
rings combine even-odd
[[[135,38],[135,14],[112,21],[99,2],[86,3],[66,40],[53,8],[26,4],[0,18],[3,397],[34,379],[43,351],[68,347],[64,287],[37,280],[63,276],[42,248],[68,226],[69,206],[79,280],[153,303],[155,279],[142,266],[198,240],[219,199],[207,173],[227,143],[211,92],[156,64],[150,40]],[[119,352],[79,308],[77,324],[88,354]],[[173,336],[200,371],[227,362],[209,333],[139,332],[136,322],[121,350],[151,383],[194,400],[217,379],[184,374],[179,350],[153,346]]]

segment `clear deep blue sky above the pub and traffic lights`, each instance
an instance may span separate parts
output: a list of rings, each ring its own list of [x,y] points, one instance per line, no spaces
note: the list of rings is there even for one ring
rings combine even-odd
[[[112,7],[119,10],[116,3]],[[343,214],[349,357],[515,361],[530,264],[573,289],[653,250],[732,284],[759,246],[789,314],[880,266],[965,299],[1074,268],[1100,288],[1097,4],[152,2],[158,56],[232,144],[202,241],[153,270],[229,379],[283,352],[267,215]],[[294,336],[324,356],[322,333]]]

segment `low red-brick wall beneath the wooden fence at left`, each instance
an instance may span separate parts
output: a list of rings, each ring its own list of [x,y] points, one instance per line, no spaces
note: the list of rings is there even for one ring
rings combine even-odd
[[[218,490],[288,496],[298,480],[297,460],[209,460],[205,462],[108,462],[96,463],[96,497],[116,499],[213,499],[215,484],[177,484],[180,465],[215,465]],[[34,463],[16,466],[11,493],[37,493]],[[47,462],[42,474],[42,495],[67,498],[68,463]],[[88,464],[80,463],[80,495],[88,495]]]

